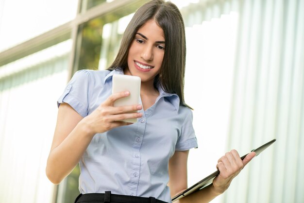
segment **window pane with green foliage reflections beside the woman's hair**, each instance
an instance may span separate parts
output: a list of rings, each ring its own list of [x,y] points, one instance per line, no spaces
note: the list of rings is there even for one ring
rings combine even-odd
[[[104,69],[116,56],[121,35],[130,14],[144,3],[139,1],[113,13],[92,19],[79,27],[74,72],[79,69]]]

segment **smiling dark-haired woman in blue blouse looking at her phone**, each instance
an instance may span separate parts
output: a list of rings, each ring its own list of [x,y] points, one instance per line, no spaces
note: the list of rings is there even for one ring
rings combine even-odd
[[[192,112],[184,101],[185,28],[178,8],[163,0],[140,7],[108,70],[80,70],[58,100],[46,173],[59,184],[79,163],[76,203],[171,202],[187,188],[187,157],[197,147]],[[141,78],[141,103],[113,107],[129,92],[111,95],[113,74]],[[138,113],[130,113],[138,110]],[[140,118],[135,124],[117,121]],[[213,185],[179,200],[209,202],[253,158],[233,150],[219,159]]]

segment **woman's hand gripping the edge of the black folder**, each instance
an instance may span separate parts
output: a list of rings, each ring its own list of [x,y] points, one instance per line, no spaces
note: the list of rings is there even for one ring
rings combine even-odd
[[[230,185],[232,179],[250,162],[255,152],[250,152],[241,160],[236,150],[231,150],[220,157],[217,169],[220,174],[213,180],[213,186],[219,194],[223,193]]]

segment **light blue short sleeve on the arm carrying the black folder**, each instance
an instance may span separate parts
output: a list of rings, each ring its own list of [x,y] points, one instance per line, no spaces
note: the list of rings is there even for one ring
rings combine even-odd
[[[192,111],[188,109],[187,116],[182,125],[181,135],[179,136],[175,146],[175,151],[186,151],[198,147],[192,120]]]

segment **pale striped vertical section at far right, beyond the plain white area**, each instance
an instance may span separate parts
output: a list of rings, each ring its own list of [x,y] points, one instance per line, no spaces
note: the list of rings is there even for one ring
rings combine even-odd
[[[272,139],[225,202],[304,201],[304,1],[239,1],[228,148]],[[236,144],[237,143],[237,144]]]

